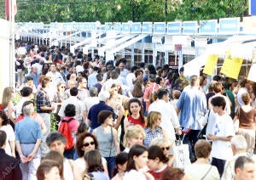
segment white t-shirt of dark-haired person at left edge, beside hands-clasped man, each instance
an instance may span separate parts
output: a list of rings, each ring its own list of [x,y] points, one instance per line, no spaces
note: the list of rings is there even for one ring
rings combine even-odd
[[[12,150],[10,148],[10,144],[9,142],[10,141],[15,141],[15,132],[14,132],[14,129],[13,127],[11,127],[10,125],[6,125],[6,126],[3,126],[3,127],[0,127],[0,130],[2,130],[3,132],[6,133],[6,146],[5,146],[5,153],[7,155],[12,155]]]

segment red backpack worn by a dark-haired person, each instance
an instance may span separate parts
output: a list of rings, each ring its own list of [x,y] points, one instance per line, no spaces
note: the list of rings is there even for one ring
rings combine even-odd
[[[74,120],[73,117],[67,121],[61,120],[61,126],[58,129],[58,132],[60,132],[62,136],[64,136],[67,140],[66,147],[65,147],[66,150],[73,148],[73,136],[72,136],[71,130],[68,127],[68,123],[73,120]]]

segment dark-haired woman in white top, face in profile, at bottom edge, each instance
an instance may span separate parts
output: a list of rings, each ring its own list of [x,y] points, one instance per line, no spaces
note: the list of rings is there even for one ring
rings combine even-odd
[[[134,145],[129,151],[124,180],[154,179],[147,171],[148,150],[142,145]]]

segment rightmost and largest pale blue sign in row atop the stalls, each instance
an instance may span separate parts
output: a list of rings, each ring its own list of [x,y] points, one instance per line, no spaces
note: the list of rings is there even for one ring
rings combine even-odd
[[[240,31],[240,18],[223,18],[219,19],[220,34],[233,34]]]

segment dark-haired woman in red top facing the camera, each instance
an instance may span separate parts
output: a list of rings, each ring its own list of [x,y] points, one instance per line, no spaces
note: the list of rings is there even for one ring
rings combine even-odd
[[[131,98],[129,101],[129,116],[125,118],[125,132],[127,127],[133,125],[140,125],[145,127],[145,117],[143,113],[143,105],[141,101],[137,98]]]

